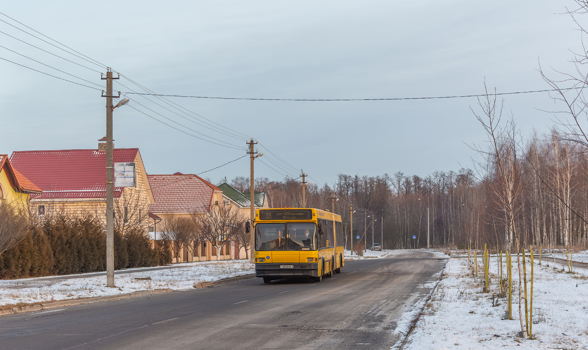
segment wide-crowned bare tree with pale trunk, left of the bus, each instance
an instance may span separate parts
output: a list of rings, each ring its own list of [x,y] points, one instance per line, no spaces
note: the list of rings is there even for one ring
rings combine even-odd
[[[198,229],[216,248],[216,260],[220,259],[220,250],[235,240],[235,235],[243,231],[245,220],[235,206],[213,206],[206,215],[195,217]]]

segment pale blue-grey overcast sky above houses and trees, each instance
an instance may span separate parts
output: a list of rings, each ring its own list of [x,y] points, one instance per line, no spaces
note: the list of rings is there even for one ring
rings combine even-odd
[[[569,71],[570,50],[580,47],[570,17],[561,14],[566,5],[574,4],[15,1],[0,11],[156,93],[361,99],[483,93],[484,80],[497,92],[547,89],[537,72],[539,62]],[[18,25],[5,16],[0,19]],[[87,68],[3,33],[0,45],[103,85],[98,72],[106,72],[104,68],[4,22],[0,31]],[[0,57],[100,89],[4,48]],[[99,90],[5,60],[0,60],[0,73],[0,154],[91,149],[105,136],[105,99]],[[125,78],[119,82],[125,86],[117,82],[116,90],[141,90]],[[145,97],[126,97],[131,103],[114,111],[115,147],[138,147],[151,174],[201,173],[245,154],[245,141],[254,137],[275,154],[258,147],[264,156],[259,159],[263,163],[256,160],[256,176],[278,180],[298,176],[300,168],[321,184],[333,183],[338,173],[375,176],[400,170],[426,176],[471,167],[476,154],[467,144],[485,139],[469,110],[475,108],[475,98],[291,102],[169,97],[210,120],[205,122],[211,129],[219,124],[232,130],[220,133],[161,100],[151,98],[169,110]],[[553,125],[553,116],[542,112],[556,109],[547,93],[504,99],[507,113],[512,111],[524,134],[547,132]],[[196,139],[131,107],[239,149]],[[215,183],[225,176],[248,175],[246,157],[202,174]]]

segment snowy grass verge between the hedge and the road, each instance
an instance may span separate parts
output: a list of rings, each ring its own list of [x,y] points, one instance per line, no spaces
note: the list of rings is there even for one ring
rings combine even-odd
[[[65,299],[99,297],[135,291],[169,288],[185,290],[194,288],[200,282],[222,280],[223,278],[255,273],[255,266],[249,260],[202,261],[183,264],[185,267],[166,270],[129,271],[115,275],[117,288],[106,287],[106,276],[48,280],[48,278],[24,278],[0,280],[0,306],[35,304]],[[55,278],[59,276],[51,276]],[[65,279],[68,278],[68,279]]]

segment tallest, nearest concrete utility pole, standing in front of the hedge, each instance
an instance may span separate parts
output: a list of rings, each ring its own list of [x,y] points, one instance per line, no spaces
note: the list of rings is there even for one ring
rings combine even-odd
[[[106,68],[106,78],[100,73],[101,80],[106,80],[106,95],[102,91],[102,97],[106,97],[106,287],[114,287],[114,184],[112,164],[112,70]]]

